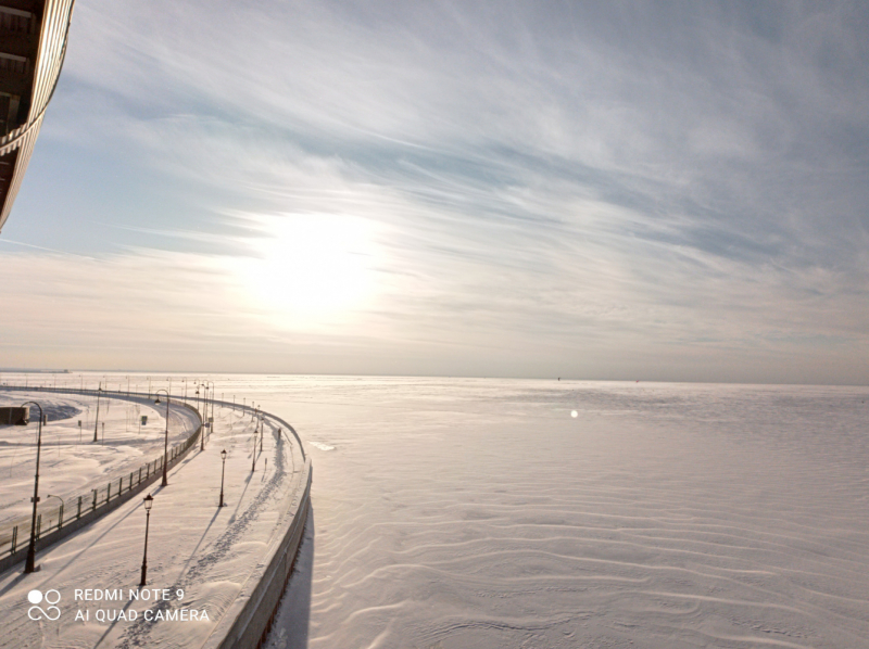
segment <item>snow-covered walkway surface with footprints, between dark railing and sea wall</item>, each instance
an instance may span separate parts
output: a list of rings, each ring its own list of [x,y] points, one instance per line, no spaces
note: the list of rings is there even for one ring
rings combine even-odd
[[[232,602],[250,593],[266,548],[282,537],[293,479],[304,467],[298,446],[276,427],[266,424],[261,451],[260,444],[254,449],[250,415],[216,408],[215,419],[206,449],[192,449],[171,470],[169,485],[158,483],[151,491],[148,587],[137,587],[146,513],[136,498],[40,552],[39,572],[22,575],[18,567],[0,575],[0,647],[162,648],[207,641]],[[218,508],[224,448],[227,506]],[[33,590],[45,599],[28,601]],[[55,620],[53,591],[61,596]],[[119,598],[106,600],[106,591]],[[141,599],[130,601],[130,591]]]

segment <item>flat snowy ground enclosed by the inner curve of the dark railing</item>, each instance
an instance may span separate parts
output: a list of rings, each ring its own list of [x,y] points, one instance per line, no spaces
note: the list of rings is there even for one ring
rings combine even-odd
[[[39,460],[39,493],[47,509],[56,509],[60,498],[87,494],[105,487],[109,480],[123,475],[163,453],[166,430],[165,398],[126,400],[45,392],[7,392],[0,387],[0,406],[37,402],[48,416],[42,427]],[[32,408],[27,427],[0,425],[0,527],[24,517],[29,529],[30,497],[36,466],[36,435],[39,410]],[[141,425],[141,417],[148,422]],[[79,428],[78,422],[81,421]],[[98,442],[93,442],[95,423]],[[196,413],[179,404],[169,407],[169,446],[190,436],[199,425]]]

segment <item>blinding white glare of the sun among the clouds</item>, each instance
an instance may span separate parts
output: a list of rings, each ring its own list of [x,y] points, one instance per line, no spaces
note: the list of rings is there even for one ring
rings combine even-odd
[[[361,306],[374,289],[370,221],[333,214],[257,219],[263,237],[251,240],[254,258],[242,283],[255,306],[288,324],[313,324]]]

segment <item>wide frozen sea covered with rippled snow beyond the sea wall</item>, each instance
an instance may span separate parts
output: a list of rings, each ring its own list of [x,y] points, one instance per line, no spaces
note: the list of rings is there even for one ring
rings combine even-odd
[[[869,648],[869,387],[207,378],[314,462],[270,649]]]

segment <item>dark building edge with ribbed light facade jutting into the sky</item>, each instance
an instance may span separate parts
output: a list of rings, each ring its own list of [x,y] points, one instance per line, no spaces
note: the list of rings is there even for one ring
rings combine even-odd
[[[75,0],[0,0],[0,230],[66,54]]]

